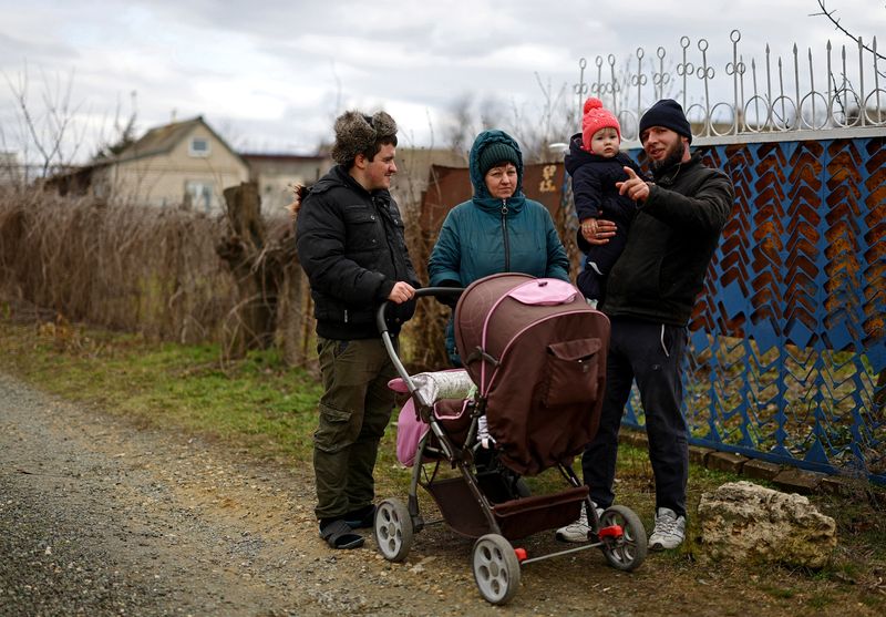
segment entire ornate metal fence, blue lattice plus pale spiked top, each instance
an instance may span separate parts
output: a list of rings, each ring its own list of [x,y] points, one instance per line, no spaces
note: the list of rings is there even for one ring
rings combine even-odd
[[[828,42],[817,64],[796,45],[748,60],[730,41],[720,65],[687,38],[673,61],[583,59],[576,85],[579,104],[616,111],[638,160],[642,112],[677,99],[693,146],[735,184],[690,323],[691,442],[886,484],[885,63],[876,39]],[[625,423],[645,423],[636,392]]]

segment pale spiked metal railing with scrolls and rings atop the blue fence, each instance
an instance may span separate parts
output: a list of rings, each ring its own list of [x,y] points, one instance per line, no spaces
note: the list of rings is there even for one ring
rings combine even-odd
[[[790,58],[773,58],[766,45],[759,62],[741,48],[739,30],[730,42],[719,65],[707,39],[693,44],[688,37],[676,54],[659,47],[652,58],[638,48],[618,66],[614,54],[597,55],[593,66],[583,58],[575,85],[579,116],[587,96],[601,99],[627,142],[638,141],[642,112],[662,97],[682,104],[702,138],[886,126],[886,61],[876,38],[838,50],[830,41],[805,52],[794,44]]]

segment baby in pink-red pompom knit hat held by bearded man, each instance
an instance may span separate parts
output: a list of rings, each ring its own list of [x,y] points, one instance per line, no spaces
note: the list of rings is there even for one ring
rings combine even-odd
[[[585,101],[581,133],[569,141],[565,164],[573,178],[573,198],[580,225],[578,247],[585,253],[585,265],[576,285],[594,306],[602,305],[606,277],[625,248],[628,227],[637,212],[632,199],[618,194],[616,183],[628,179],[626,166],[640,177],[642,173],[627,154],[619,152],[620,144],[618,119],[599,99],[591,96]],[[586,240],[595,237],[598,218],[614,222],[617,232],[607,244],[590,245]]]

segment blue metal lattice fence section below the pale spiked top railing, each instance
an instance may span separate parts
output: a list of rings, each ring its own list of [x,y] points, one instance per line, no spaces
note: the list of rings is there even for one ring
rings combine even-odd
[[[886,483],[886,136],[699,150],[736,205],[690,323],[690,441]]]

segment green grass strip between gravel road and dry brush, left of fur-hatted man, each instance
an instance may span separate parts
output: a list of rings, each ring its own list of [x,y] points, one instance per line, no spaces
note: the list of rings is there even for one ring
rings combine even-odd
[[[308,372],[284,368],[276,351],[223,370],[217,346],[12,323],[0,337],[0,367],[51,393],[144,425],[222,439],[257,457],[310,460],[321,390]]]

